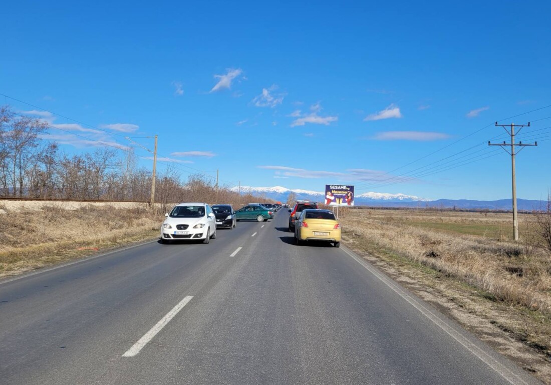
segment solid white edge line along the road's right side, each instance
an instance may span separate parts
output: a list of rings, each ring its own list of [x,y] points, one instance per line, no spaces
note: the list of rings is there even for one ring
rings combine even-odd
[[[512,372],[505,365],[501,364],[501,362],[494,359],[494,357],[490,356],[488,353],[485,353],[484,350],[480,349],[477,345],[473,344],[467,338],[463,337],[461,333],[458,333],[457,330],[453,329],[448,324],[446,324],[444,320],[442,320],[439,316],[431,312],[429,308],[423,306],[421,302],[414,299],[413,296],[409,295],[406,291],[404,291],[398,285],[393,283],[392,280],[388,279],[385,275],[381,274],[379,271],[371,267],[371,265],[368,262],[364,261],[364,259],[356,256],[352,251],[349,251],[346,248],[342,248],[342,251],[347,253],[356,262],[361,264],[371,274],[375,275],[376,278],[378,278],[380,281],[382,281],[382,283],[387,285],[388,288],[390,288],[391,290],[396,292],[396,294],[401,296],[404,300],[409,302],[410,305],[412,305],[419,312],[421,312],[426,318],[429,318],[430,321],[436,324],[436,326],[444,330],[444,332],[450,335],[451,338],[455,339],[464,348],[466,348],[468,351],[470,351],[472,354],[478,357],[479,360],[481,360],[482,362],[484,362],[484,364],[492,368],[495,372],[497,372],[501,377],[506,379],[509,383],[514,385],[518,385],[518,384],[528,385],[528,383],[524,381],[521,377],[516,375],[516,373]]]

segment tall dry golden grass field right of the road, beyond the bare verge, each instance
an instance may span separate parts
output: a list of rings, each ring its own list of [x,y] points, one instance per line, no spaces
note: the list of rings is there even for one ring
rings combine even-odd
[[[529,216],[525,240],[510,240],[510,215],[350,210],[344,234],[401,254],[480,288],[496,299],[551,315],[551,258],[534,247]],[[527,231],[522,231],[523,229]]]

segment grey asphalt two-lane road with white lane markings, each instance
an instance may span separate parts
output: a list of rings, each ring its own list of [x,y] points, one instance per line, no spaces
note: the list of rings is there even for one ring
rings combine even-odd
[[[0,383],[539,383],[287,214],[4,280]]]

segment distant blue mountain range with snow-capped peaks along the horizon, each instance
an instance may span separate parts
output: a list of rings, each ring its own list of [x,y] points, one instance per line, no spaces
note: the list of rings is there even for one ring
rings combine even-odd
[[[239,188],[233,187],[232,191],[239,191]],[[241,186],[241,193],[251,193],[260,198],[273,199],[279,202],[287,202],[290,193],[295,194],[295,199],[312,200],[322,202],[325,192],[289,189],[282,186],[274,187],[249,187]],[[367,192],[356,194],[354,197],[356,206],[375,206],[375,207],[411,207],[411,208],[456,208],[463,210],[511,210],[512,199],[499,200],[469,200],[469,199],[426,199],[406,194],[389,194]],[[539,210],[546,207],[547,201],[517,199],[518,210]]]

